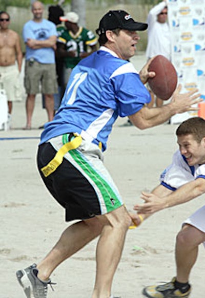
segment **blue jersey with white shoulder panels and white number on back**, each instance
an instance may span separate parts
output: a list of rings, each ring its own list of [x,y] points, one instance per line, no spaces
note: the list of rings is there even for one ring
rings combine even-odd
[[[117,117],[138,112],[150,100],[132,63],[100,47],[73,69],[60,108],[45,125],[40,143],[73,132],[101,142],[105,151]]]

